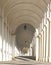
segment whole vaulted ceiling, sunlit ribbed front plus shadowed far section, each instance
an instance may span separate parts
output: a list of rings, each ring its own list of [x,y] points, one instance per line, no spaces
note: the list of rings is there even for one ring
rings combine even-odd
[[[11,33],[17,30],[16,40],[18,47],[29,47],[33,30],[42,22],[49,2],[50,0],[0,0],[4,20],[5,18],[7,19]],[[21,24],[26,24],[27,30],[23,30],[24,25]],[[28,24],[31,25],[30,28]],[[32,26],[34,27],[33,30],[31,30]]]

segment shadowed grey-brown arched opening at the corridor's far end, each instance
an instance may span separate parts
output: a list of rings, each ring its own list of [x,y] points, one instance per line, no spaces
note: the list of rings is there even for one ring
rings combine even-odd
[[[16,28],[16,47],[19,56],[35,59],[35,44],[33,40],[35,28],[28,23],[23,23]]]

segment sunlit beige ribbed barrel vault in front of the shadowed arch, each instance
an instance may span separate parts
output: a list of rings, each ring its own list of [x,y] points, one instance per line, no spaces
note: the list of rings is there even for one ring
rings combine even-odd
[[[0,0],[4,8],[11,32],[22,23],[29,23],[34,28],[38,27],[47,10],[50,0]]]

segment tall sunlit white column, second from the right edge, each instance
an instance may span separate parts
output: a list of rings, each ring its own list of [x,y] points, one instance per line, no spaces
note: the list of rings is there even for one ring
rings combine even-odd
[[[49,47],[49,44],[50,44],[50,39],[49,39],[49,34],[50,34],[50,31],[49,31],[49,22],[47,21],[47,46],[46,46],[46,61],[49,61],[49,51],[50,51],[50,47]]]

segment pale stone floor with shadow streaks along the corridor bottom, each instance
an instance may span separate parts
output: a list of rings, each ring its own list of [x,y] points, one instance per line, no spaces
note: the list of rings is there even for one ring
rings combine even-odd
[[[26,58],[18,58],[12,61],[0,62],[0,65],[51,65],[51,63],[40,63]]]

